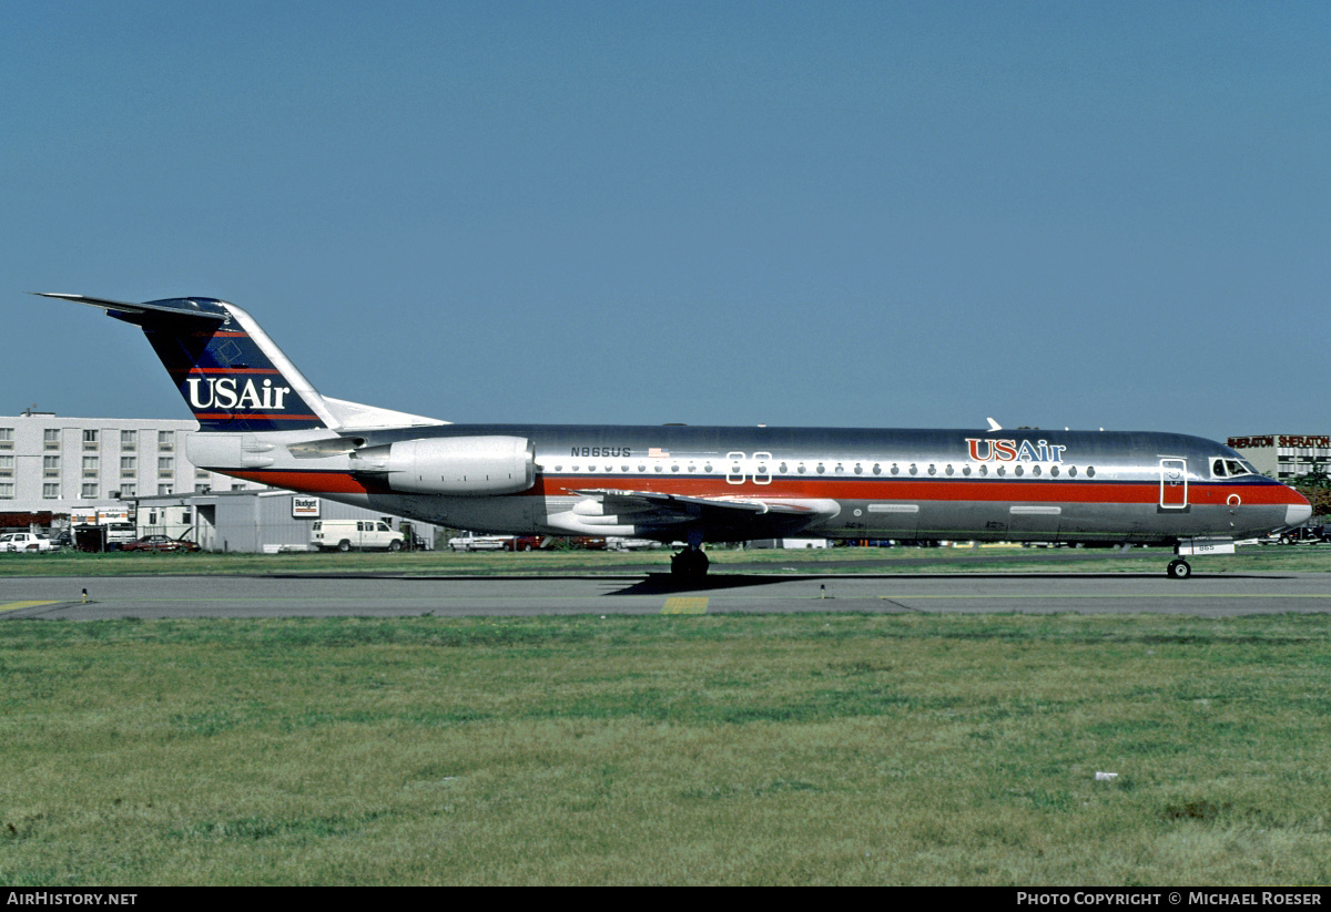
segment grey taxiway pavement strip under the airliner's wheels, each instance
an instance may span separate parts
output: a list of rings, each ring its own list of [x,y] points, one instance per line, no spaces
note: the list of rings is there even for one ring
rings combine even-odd
[[[87,590],[87,602],[84,601]],[[1327,573],[172,576],[0,578],[0,620],[535,614],[1331,612]]]

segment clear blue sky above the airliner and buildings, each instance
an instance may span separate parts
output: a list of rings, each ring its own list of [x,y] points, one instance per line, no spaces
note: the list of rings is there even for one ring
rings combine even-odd
[[[0,5],[0,413],[1331,429],[1331,4]]]

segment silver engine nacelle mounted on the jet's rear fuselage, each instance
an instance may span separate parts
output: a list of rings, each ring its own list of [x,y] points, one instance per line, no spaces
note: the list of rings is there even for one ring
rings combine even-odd
[[[389,447],[389,488],[421,495],[515,495],[536,480],[526,437],[427,437]]]

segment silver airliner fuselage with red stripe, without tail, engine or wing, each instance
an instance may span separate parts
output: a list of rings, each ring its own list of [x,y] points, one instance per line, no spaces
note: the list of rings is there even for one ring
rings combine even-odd
[[[284,457],[262,468],[196,464],[426,522],[510,534],[703,540],[828,538],[1155,542],[1246,538],[1302,522],[1307,501],[1260,475],[1221,468],[1239,455],[1202,437],[1151,432],[462,425],[357,432],[363,448],[421,437],[524,437],[528,491],[503,496],[399,493],[357,472],[354,456]],[[200,435],[206,437],[209,435]],[[201,461],[202,460],[202,461]],[[588,514],[586,493],[652,492],[761,501],[805,513],[701,517]]]

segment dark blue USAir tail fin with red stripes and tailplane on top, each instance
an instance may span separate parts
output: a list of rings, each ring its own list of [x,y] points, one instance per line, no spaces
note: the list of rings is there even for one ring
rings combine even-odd
[[[169,298],[132,304],[47,294],[101,307],[142,328],[201,431],[261,432],[338,428],[323,398],[268,334],[236,304]]]

